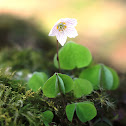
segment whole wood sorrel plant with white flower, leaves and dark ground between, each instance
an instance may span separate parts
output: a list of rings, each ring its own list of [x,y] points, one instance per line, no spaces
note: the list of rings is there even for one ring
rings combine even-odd
[[[60,19],[49,33],[49,36],[57,38],[54,65],[59,68],[59,73],[54,73],[48,79],[45,73],[36,72],[28,82],[33,91],[36,92],[41,87],[46,99],[54,102],[56,109],[53,111],[53,122],[57,125],[86,125],[99,113],[99,106],[113,106],[105,91],[115,90],[119,86],[118,75],[112,68],[103,64],[89,66],[92,55],[86,47],[74,42],[65,44],[67,36],[73,38],[78,35],[74,28],[76,25],[76,19]],[[60,50],[58,42],[63,46]],[[71,78],[71,75],[61,71],[75,68],[82,68],[78,77],[74,75]],[[100,117],[105,121],[103,113]],[[99,122],[96,121],[95,124]]]

